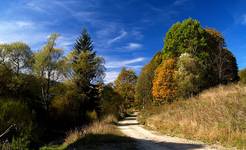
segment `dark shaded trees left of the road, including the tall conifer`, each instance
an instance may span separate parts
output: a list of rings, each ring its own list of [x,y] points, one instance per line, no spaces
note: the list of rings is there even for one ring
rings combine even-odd
[[[0,133],[16,126],[0,138],[2,145],[38,148],[70,129],[124,111],[121,96],[103,84],[104,59],[89,33],[83,30],[67,55],[56,46],[58,38],[51,34],[36,52],[23,42],[0,45]]]

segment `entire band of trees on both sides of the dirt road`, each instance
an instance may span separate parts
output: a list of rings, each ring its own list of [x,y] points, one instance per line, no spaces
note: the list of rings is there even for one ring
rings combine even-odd
[[[163,49],[139,76],[122,68],[109,84],[103,82],[104,59],[85,29],[67,55],[56,46],[58,38],[51,34],[38,51],[23,42],[0,45],[0,139],[5,146],[37,149],[107,115],[124,117],[133,109],[171,104],[246,79],[245,70],[239,78],[222,34],[191,18],[168,30]]]

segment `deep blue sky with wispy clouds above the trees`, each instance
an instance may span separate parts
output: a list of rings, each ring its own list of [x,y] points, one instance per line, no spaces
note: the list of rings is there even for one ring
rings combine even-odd
[[[69,52],[86,27],[110,82],[123,66],[139,73],[162,49],[168,28],[188,17],[222,32],[239,68],[246,67],[244,0],[1,0],[0,42],[23,41],[38,50],[57,32],[57,47]]]

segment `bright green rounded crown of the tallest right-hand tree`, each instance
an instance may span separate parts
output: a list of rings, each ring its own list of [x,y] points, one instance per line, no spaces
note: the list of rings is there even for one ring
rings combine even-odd
[[[175,23],[167,32],[164,40],[164,57],[178,57],[182,53],[204,56],[206,48],[205,30],[198,20],[191,18]]]

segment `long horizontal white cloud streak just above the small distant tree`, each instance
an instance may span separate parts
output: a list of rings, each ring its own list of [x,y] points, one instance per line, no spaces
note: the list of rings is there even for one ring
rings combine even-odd
[[[133,65],[136,63],[143,62],[145,60],[144,57],[138,57],[130,60],[117,60],[117,61],[106,61],[106,68],[108,69],[115,69],[115,68],[122,68],[122,67],[129,67],[129,68],[139,68],[140,65]]]

